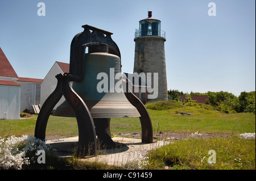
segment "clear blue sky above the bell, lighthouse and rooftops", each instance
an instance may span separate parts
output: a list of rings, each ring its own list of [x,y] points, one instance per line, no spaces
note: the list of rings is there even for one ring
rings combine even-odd
[[[89,24],[113,32],[122,72],[132,73],[134,32],[148,10],[166,32],[168,90],[255,91],[254,0],[0,0],[0,47],[19,77],[43,79],[55,61],[69,63],[73,37]]]

